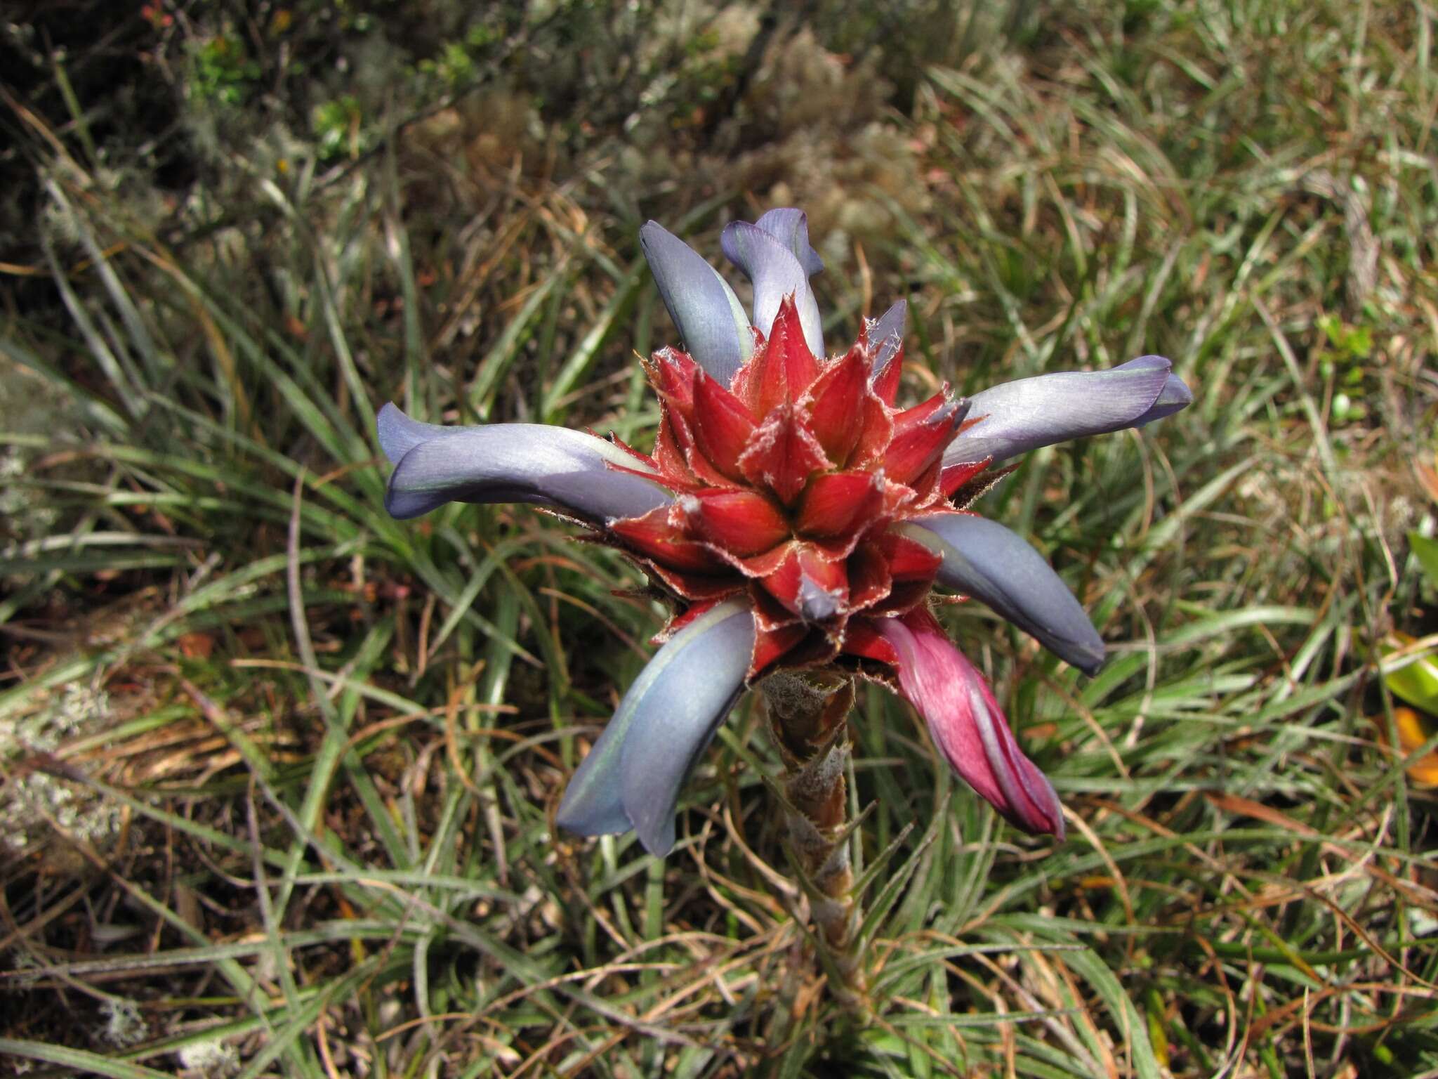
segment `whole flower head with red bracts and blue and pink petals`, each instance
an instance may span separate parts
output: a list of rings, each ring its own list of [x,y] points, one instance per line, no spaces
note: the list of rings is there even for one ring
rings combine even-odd
[[[733,222],[725,255],[752,317],[696,252],[650,222],[644,256],[684,348],[646,371],[654,447],[536,424],[436,427],[393,404],[380,442],[387,506],[533,502],[644,567],[672,598],[663,646],[565,793],[559,824],[674,843],[679,790],[739,693],[792,668],[840,668],[909,699],[953,768],[1007,820],[1061,837],[1063,811],[992,691],[928,610],[935,586],[975,597],[1087,672],[1103,640],[1043,557],[968,511],[992,466],[1066,439],[1137,427],[1192,396],[1162,357],[1025,378],[899,409],[903,301],[847,351],[824,350],[805,216]]]

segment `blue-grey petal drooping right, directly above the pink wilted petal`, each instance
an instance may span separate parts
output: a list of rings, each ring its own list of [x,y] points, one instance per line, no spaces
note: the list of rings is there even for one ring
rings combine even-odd
[[[1103,663],[1103,637],[1078,600],[1015,532],[971,514],[929,514],[899,531],[942,555],[939,584],[986,603],[1080,670]]]

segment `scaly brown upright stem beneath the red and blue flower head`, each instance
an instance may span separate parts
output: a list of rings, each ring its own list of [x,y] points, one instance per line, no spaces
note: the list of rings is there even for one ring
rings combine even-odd
[[[844,836],[848,809],[844,765],[854,683],[837,675],[778,673],[761,688],[769,729],[784,758],[789,847],[812,885],[814,927],[844,980],[844,985],[834,988],[857,994],[863,988],[856,951],[858,902]]]

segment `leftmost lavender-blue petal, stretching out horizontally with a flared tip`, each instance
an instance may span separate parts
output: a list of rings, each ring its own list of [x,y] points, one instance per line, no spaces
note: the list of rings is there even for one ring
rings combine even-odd
[[[394,404],[378,416],[380,446],[395,462],[384,508],[427,514],[446,502],[532,502],[587,521],[638,516],[670,493],[633,472],[644,463],[594,434],[539,423],[440,427]]]

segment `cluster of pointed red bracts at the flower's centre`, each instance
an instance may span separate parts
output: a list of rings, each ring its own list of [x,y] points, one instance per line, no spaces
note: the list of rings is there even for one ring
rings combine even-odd
[[[751,680],[833,660],[853,620],[910,610],[938,574],[940,560],[893,527],[958,512],[942,457],[968,401],[945,387],[894,409],[873,384],[877,344],[861,335],[837,358],[815,357],[785,296],[729,386],[673,348],[649,364],[661,422],[644,463],[674,502],[610,531],[683,604],[778,604]],[[902,350],[887,367],[900,363]],[[948,472],[968,481],[979,469]]]

